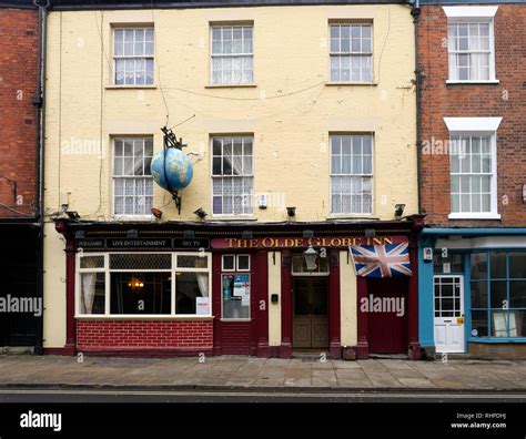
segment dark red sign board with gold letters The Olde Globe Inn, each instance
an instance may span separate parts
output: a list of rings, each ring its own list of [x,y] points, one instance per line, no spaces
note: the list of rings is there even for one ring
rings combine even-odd
[[[351,245],[387,245],[407,242],[407,236],[262,237],[253,239],[227,237],[212,239],[212,248],[304,248],[310,245],[313,247],[348,247]]]

